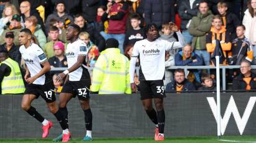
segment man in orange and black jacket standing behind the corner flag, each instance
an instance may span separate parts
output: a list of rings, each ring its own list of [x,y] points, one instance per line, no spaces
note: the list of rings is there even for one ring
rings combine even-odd
[[[228,55],[229,50],[231,50],[230,34],[227,33],[225,27],[222,25],[221,17],[219,15],[212,18],[211,32],[206,34],[206,48],[207,52],[211,53],[211,55],[214,53],[216,40],[220,40],[220,45],[224,52],[225,58],[227,59],[227,57],[231,57]],[[228,65],[227,60],[225,60],[223,64]]]

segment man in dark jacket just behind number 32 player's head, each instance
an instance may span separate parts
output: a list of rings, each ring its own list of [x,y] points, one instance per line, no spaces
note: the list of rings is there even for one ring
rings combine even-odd
[[[93,44],[97,45],[98,50],[102,51],[105,49],[105,40],[102,35],[100,35],[94,24],[89,24],[85,21],[82,14],[75,15],[75,24],[80,27],[81,32],[87,32],[90,35],[90,40]]]

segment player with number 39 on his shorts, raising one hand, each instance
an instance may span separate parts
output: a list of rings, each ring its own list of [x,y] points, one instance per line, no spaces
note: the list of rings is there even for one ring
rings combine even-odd
[[[158,39],[158,29],[155,24],[148,24],[145,27],[146,39],[135,43],[130,61],[130,83],[131,90],[136,92],[136,85],[133,81],[135,64],[140,58],[140,95],[144,109],[151,121],[156,125],[154,140],[164,140],[165,113],[163,108],[164,93],[164,62],[166,50],[182,48],[186,42],[178,27],[170,23],[171,29],[178,35],[179,42],[168,42]],[[152,106],[152,98],[156,111]]]

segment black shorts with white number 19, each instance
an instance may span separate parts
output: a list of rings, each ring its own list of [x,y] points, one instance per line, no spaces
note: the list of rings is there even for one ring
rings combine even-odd
[[[36,95],[37,98],[41,96],[47,103],[52,103],[56,100],[54,82],[50,80],[44,85],[28,84],[24,95]]]

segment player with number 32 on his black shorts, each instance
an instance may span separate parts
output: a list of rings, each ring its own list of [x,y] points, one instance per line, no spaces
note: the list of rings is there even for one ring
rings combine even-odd
[[[85,127],[87,134],[83,141],[92,141],[92,111],[90,109],[90,74],[86,68],[85,57],[87,56],[86,44],[78,39],[80,27],[78,25],[70,25],[67,28],[67,40],[70,43],[67,45],[65,55],[67,57],[68,69],[57,76],[57,80],[66,80],[60,93],[59,108],[64,113],[66,121],[68,121],[67,103],[71,98],[78,97],[81,108],[85,114]],[[63,132],[62,141],[68,141],[69,132]],[[58,137],[57,137],[58,138]]]

